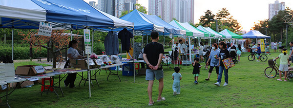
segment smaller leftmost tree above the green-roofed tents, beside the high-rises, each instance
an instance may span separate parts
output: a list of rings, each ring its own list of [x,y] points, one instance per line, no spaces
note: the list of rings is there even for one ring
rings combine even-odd
[[[211,22],[210,19],[214,19],[214,17],[215,15],[213,15],[210,10],[207,10],[207,12],[205,12],[205,15],[200,17],[199,23],[201,23],[204,27],[209,27]]]

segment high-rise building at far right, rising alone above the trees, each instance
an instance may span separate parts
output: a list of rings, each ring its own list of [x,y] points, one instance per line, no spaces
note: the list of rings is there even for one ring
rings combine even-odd
[[[275,0],[274,3],[269,4],[269,20],[272,19],[273,16],[277,15],[279,11],[285,10],[285,2],[279,3],[279,0]]]

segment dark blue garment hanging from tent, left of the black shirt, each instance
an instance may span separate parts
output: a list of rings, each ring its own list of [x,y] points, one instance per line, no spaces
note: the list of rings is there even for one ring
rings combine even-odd
[[[105,51],[107,55],[119,54],[118,36],[113,31],[109,31],[104,41]]]

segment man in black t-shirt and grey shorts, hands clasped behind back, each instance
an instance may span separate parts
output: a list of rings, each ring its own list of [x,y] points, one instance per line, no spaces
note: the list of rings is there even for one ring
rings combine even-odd
[[[144,59],[146,62],[146,80],[148,81],[147,93],[149,98],[149,106],[152,106],[154,101],[152,100],[152,86],[155,80],[159,80],[159,96],[157,102],[164,101],[165,98],[161,96],[164,83],[164,72],[163,67],[161,66],[162,57],[164,54],[164,46],[158,43],[159,34],[157,32],[151,32],[151,43],[148,43],[145,46],[144,50]]]

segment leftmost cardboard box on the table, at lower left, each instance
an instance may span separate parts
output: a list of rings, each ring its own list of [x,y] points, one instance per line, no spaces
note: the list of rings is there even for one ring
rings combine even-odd
[[[41,73],[38,73],[34,66],[36,65],[25,65],[25,66],[18,66],[16,68],[15,74],[24,75],[24,76],[35,76],[40,75]]]

